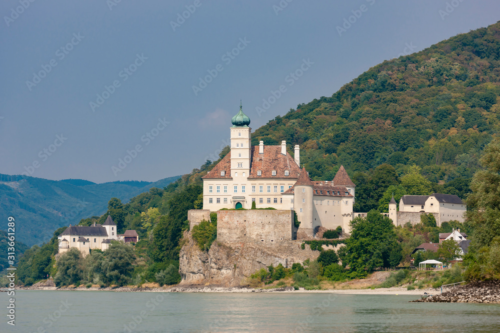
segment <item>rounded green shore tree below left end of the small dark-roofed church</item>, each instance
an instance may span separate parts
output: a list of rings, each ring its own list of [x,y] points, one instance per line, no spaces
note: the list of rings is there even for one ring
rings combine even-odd
[[[77,284],[83,277],[81,254],[76,248],[70,248],[56,262],[57,273],[54,283],[57,287]]]

